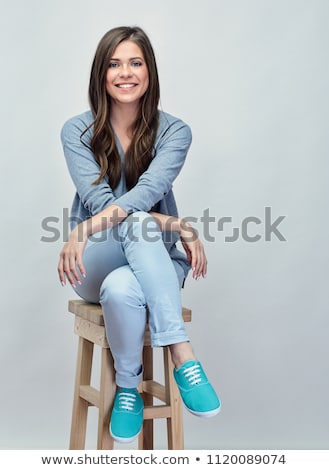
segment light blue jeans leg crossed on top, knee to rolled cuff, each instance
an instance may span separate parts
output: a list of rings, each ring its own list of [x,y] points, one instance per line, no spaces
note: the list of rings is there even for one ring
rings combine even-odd
[[[117,228],[127,262],[149,310],[153,347],[188,342],[182,318],[181,285],[156,221],[135,212]]]

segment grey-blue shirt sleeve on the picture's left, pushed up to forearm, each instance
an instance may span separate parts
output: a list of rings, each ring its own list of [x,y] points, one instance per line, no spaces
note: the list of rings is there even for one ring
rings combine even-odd
[[[91,130],[86,132],[81,140],[82,132],[87,124],[81,118],[68,120],[61,131],[61,141],[69,173],[76,187],[77,193],[84,207],[93,216],[114,204],[116,197],[107,180],[103,178],[99,184],[94,185],[100,175],[100,166],[95,160],[93,152],[88,148]]]

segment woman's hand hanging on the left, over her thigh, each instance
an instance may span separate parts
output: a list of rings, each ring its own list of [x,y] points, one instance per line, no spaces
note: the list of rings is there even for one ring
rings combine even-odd
[[[58,263],[58,275],[61,284],[66,284],[66,278],[73,287],[76,282],[81,284],[81,275],[86,277],[86,271],[82,262],[82,254],[88,240],[86,224],[81,223],[72,230],[68,241],[65,243]],[[77,270],[80,271],[80,274]]]

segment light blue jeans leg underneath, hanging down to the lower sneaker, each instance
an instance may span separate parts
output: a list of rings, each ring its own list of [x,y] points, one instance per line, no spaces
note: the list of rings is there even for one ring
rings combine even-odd
[[[83,263],[87,275],[75,291],[86,301],[102,305],[117,385],[137,387],[142,373],[145,298],[113,230],[88,241]]]

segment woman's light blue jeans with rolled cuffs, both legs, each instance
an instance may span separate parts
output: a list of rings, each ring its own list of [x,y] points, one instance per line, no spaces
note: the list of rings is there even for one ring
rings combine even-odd
[[[101,303],[116,383],[134,388],[142,380],[147,309],[153,347],[189,341],[180,293],[184,270],[170,258],[159,226],[146,212],[135,212],[98,236],[87,242],[87,276],[75,290]]]

